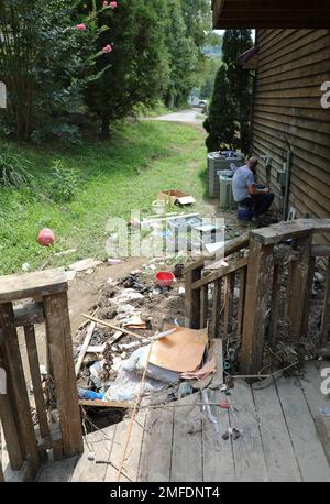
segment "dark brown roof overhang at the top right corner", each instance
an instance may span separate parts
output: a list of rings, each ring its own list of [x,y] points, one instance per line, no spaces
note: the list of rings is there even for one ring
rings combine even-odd
[[[212,0],[213,29],[330,29],[330,0]]]

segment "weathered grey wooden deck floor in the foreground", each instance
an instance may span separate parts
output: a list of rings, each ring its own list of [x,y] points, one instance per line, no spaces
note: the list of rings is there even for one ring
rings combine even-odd
[[[253,386],[238,381],[230,410],[212,407],[218,440],[201,407],[194,406],[198,394],[175,403],[179,407],[141,410],[121,481],[330,482],[330,418],[319,412],[330,406],[330,395],[321,394],[320,384],[315,363],[304,380],[279,377]],[[210,391],[209,398],[219,402],[223,393]],[[223,440],[229,426],[242,437]],[[48,463],[38,481],[116,482],[127,431],[128,423],[121,423],[89,435],[79,459]],[[90,451],[96,461],[88,460]]]

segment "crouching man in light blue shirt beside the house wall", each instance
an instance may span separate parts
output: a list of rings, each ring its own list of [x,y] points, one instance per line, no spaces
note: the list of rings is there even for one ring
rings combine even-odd
[[[275,195],[267,187],[257,186],[255,183],[257,160],[251,157],[246,165],[235,171],[232,182],[234,200],[242,208],[251,210],[252,217],[258,218],[265,213]]]

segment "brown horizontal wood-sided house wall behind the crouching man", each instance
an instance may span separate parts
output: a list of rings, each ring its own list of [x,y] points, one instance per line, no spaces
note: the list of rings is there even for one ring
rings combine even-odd
[[[298,217],[330,217],[330,108],[321,107],[330,81],[330,30],[258,30],[253,155],[272,158],[271,184],[280,206],[277,171],[293,152],[289,204]],[[265,162],[261,161],[265,182]]]

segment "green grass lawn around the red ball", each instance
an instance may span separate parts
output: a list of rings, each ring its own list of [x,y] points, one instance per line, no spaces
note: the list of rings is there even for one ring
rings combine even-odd
[[[0,274],[21,271],[25,262],[35,270],[45,263],[50,267],[87,256],[105,259],[108,219],[128,219],[132,209],[151,215],[161,189],[193,194],[198,200],[194,211],[207,205],[204,136],[191,127],[142,121],[122,125],[109,143],[86,142],[69,149],[2,143],[1,150],[31,162],[34,187],[0,189]],[[69,202],[45,196],[56,160],[79,179]],[[52,249],[36,242],[45,227],[55,231]],[[55,255],[69,249],[77,252]]]

